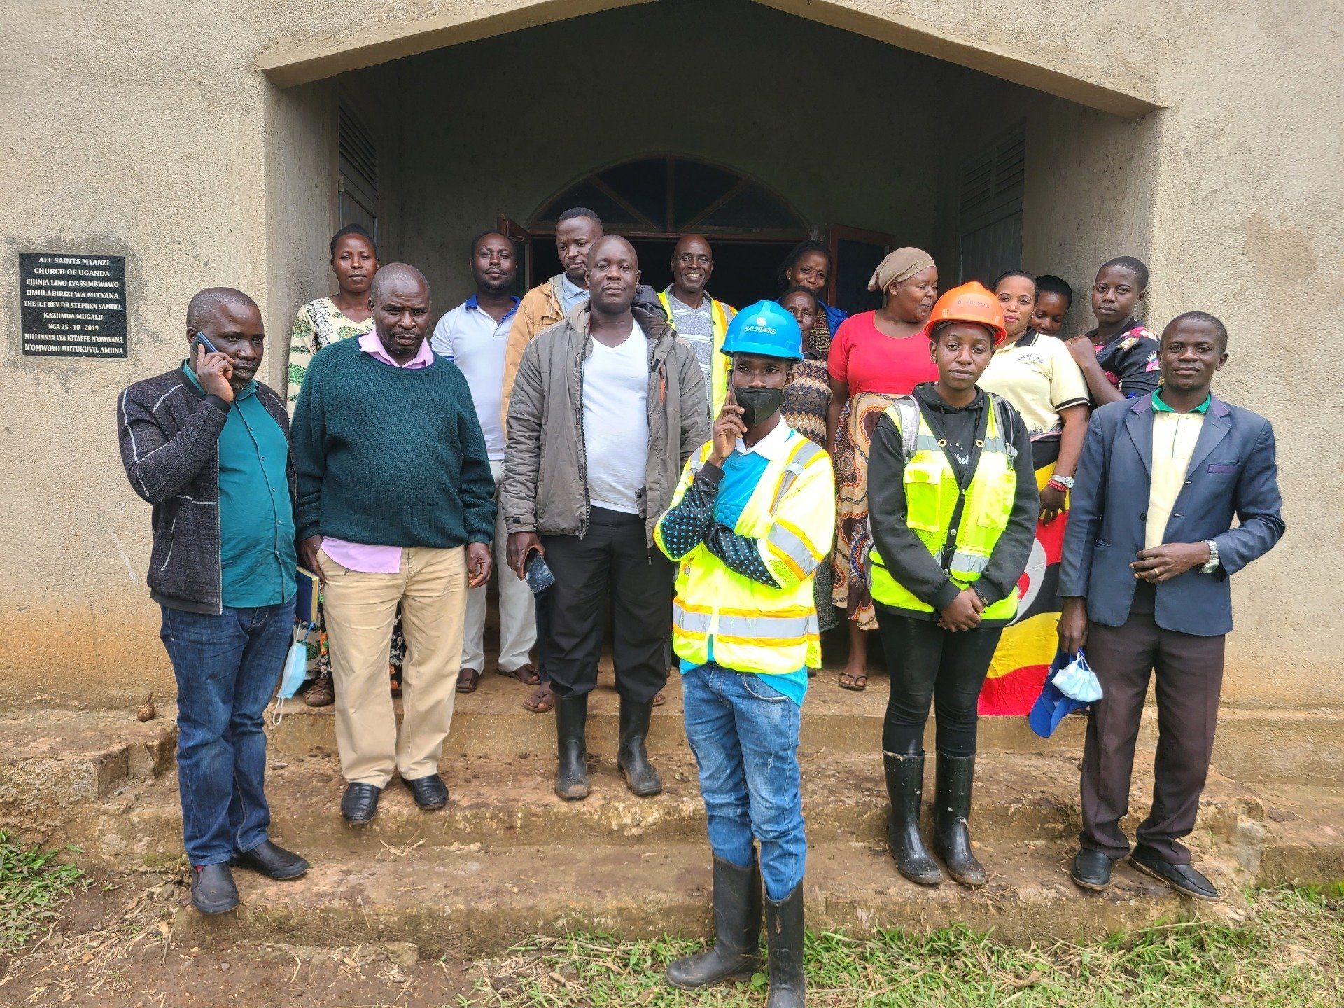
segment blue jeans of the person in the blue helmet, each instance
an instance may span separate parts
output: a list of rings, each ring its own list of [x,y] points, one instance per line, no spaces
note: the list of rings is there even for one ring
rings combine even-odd
[[[685,735],[700,766],[710,849],[745,868],[754,836],[765,891],[784,899],[802,882],[808,857],[798,773],[802,711],[769,676],[712,661],[681,676],[681,694]]]

